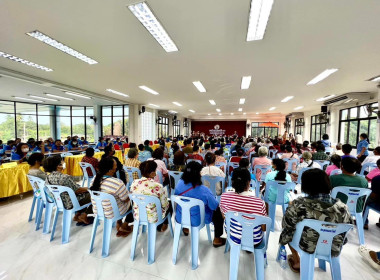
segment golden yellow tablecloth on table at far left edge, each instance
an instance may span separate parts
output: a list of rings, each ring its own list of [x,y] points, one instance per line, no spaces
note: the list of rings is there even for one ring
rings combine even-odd
[[[27,163],[4,163],[0,166],[0,198],[17,195],[32,190],[26,175],[29,172]]]

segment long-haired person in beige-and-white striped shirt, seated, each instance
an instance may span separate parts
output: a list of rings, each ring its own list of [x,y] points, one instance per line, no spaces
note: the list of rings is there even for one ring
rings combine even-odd
[[[123,181],[113,177],[115,175],[116,169],[117,163],[112,157],[103,158],[99,162],[99,170],[94,181],[92,182],[90,189],[92,191],[101,191],[114,196],[120,214],[124,215],[129,210],[131,210],[131,201],[129,200],[128,191]],[[102,205],[106,218],[112,219],[114,217],[114,214],[112,212],[111,203],[103,201]],[[92,201],[92,206],[94,214],[96,215],[97,208],[94,201]],[[130,227],[128,223],[132,222],[132,212],[125,217],[124,222],[122,220],[118,220],[116,223],[116,236],[127,237],[132,232],[132,227]]]

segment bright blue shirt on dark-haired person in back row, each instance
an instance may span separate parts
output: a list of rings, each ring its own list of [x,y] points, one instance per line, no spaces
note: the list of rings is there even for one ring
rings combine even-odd
[[[190,188],[192,188],[191,183],[186,185],[183,180],[179,180],[178,185],[175,188],[174,194],[179,195]],[[197,186],[191,189],[190,191],[186,192],[182,196],[192,197],[192,198],[202,200],[203,203],[205,204],[205,223],[206,224],[211,223],[213,211],[216,210],[219,203],[215,199],[214,195],[212,194],[212,192],[210,191],[208,187],[204,185]],[[200,217],[198,206],[190,209],[190,216],[191,216],[191,225],[195,227],[199,226],[201,223],[201,217]],[[179,205],[177,205],[175,219],[178,223],[180,223],[182,220],[182,212],[181,212],[181,207]]]

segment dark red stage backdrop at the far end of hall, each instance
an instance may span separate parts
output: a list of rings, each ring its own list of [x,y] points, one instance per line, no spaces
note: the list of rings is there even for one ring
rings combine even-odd
[[[239,136],[245,136],[246,133],[246,121],[191,121],[191,130],[194,132],[204,132],[206,135],[210,135],[210,130],[215,129],[215,126],[219,125],[219,129],[225,130],[226,135],[232,135],[236,131]]]

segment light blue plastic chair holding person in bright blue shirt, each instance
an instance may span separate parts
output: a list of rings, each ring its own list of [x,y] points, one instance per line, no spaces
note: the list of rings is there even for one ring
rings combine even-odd
[[[174,242],[173,242],[173,264],[177,262],[179,238],[181,236],[182,228],[188,228],[191,235],[191,268],[197,269],[198,267],[198,247],[199,247],[199,231],[205,226],[205,205],[202,200],[184,197],[184,196],[171,196],[171,202],[173,211],[175,212],[175,206],[178,204],[181,207],[182,220],[181,223],[175,221]],[[197,227],[191,225],[190,209],[193,207],[199,207],[200,224]],[[210,224],[206,224],[208,241],[211,243],[211,231]]]

